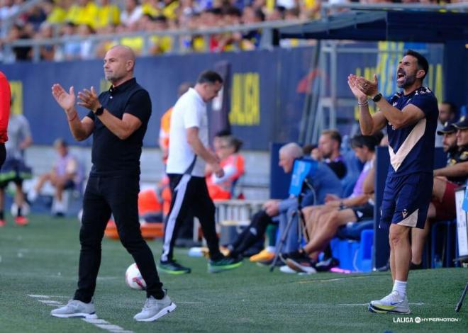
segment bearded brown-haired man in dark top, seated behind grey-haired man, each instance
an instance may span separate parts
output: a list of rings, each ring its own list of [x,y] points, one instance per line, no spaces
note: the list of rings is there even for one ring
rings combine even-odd
[[[323,130],[318,139],[318,150],[323,162],[335,172],[339,179],[346,176],[345,160],[340,153],[341,135],[338,130]]]

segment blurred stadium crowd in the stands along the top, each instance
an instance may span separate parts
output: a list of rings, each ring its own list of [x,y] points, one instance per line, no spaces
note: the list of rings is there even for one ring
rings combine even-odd
[[[330,0],[330,4],[343,4],[346,0]],[[362,4],[447,4],[452,1],[433,0],[362,0],[349,1]],[[321,0],[47,0],[39,1],[27,11],[17,15],[24,0],[0,1],[0,21],[16,17],[8,30],[0,33],[0,46],[15,40],[77,35],[112,35],[117,33],[150,33],[165,30],[199,30],[225,26],[249,25],[263,21],[311,20],[320,17]],[[244,33],[219,33],[205,38],[189,35],[180,38],[178,50],[184,52],[225,52],[252,50],[260,45],[261,29]],[[165,35],[153,35],[149,40],[150,55],[171,52],[174,40]],[[299,40],[275,40],[275,45],[299,45]],[[69,40],[63,44],[40,47],[41,60],[76,60],[103,57],[113,45],[132,47],[136,54],[143,52],[145,40],[141,36],[109,38],[94,44],[90,40]],[[3,47],[3,46],[2,46]],[[3,52],[2,52],[3,53]],[[32,57],[29,46],[13,47],[16,61]],[[2,59],[0,58],[0,61]],[[11,61],[11,59],[9,60]]]

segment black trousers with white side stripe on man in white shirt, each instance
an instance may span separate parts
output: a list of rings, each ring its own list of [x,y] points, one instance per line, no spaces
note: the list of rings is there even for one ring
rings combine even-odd
[[[219,252],[219,241],[216,235],[215,206],[208,194],[204,177],[189,174],[168,174],[172,201],[165,222],[164,244],[161,261],[172,260],[174,242],[180,225],[191,213],[199,218],[201,230],[208,244],[210,257],[217,260],[223,257]]]

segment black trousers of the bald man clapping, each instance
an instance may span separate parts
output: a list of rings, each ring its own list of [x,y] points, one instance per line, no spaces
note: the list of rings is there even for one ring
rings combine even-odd
[[[89,303],[96,288],[101,265],[101,242],[111,218],[116,221],[123,246],[133,256],[147,285],[147,297],[162,298],[162,283],[157,275],[155,259],[141,236],[138,221],[138,176],[93,176],[84,192],[82,227],[79,231],[78,289],[75,300]]]

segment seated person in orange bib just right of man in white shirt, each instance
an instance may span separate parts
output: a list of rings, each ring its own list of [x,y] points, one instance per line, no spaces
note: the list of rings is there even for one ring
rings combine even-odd
[[[209,166],[206,168],[206,186],[213,200],[228,200],[239,198],[235,192],[238,180],[244,174],[244,157],[239,154],[243,142],[233,135],[223,136],[219,139],[219,145],[215,148],[215,154],[221,160],[220,165],[224,170],[224,176],[218,177]]]

